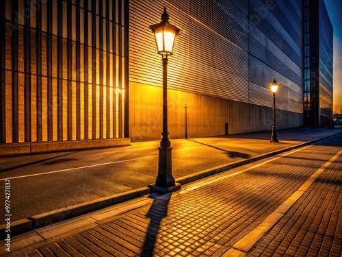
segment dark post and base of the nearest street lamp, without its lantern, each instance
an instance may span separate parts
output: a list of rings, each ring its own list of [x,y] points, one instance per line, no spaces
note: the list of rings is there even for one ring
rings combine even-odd
[[[163,132],[160,141],[158,175],[154,185],[150,185],[153,192],[168,193],[181,188],[172,175],[172,147],[168,137],[168,56],[163,56]]]

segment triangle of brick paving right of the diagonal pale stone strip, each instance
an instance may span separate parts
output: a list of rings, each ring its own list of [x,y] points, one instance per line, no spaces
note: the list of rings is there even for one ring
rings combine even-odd
[[[342,256],[341,171],[340,155],[250,256]]]

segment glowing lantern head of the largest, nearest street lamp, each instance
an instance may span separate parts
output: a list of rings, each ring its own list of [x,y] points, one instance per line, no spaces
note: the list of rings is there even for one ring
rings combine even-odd
[[[179,35],[181,29],[169,23],[169,15],[166,13],[166,7],[163,14],[161,14],[161,22],[155,25],[150,25],[155,34],[155,43],[157,45],[157,51],[162,56],[168,56],[172,54],[174,46],[174,38]]]

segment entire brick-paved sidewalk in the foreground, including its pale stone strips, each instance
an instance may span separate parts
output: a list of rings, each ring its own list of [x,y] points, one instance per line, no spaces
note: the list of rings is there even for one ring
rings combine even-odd
[[[14,236],[7,256],[341,256],[341,142],[36,228]]]

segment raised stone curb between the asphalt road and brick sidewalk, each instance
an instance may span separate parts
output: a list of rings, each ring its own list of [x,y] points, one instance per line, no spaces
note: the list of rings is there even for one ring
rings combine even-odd
[[[342,133],[342,132],[341,132]],[[337,133],[337,134],[341,134]],[[187,175],[181,178],[176,179],[177,183],[180,184],[187,184],[189,182],[194,182],[196,180],[200,180],[201,178],[208,177],[210,175],[214,175],[217,173],[222,173],[223,171],[227,171],[228,169],[233,169],[235,167],[239,167],[245,164],[249,164],[251,162],[256,162],[257,160],[269,158],[271,156],[275,156],[277,154],[282,154],[285,151],[291,151],[293,149],[297,149],[300,147],[303,147],[305,145],[309,145],[312,143],[316,143],[320,140],[324,140],[326,138],[330,138],[332,136],[335,136],[337,134],[333,134],[330,136],[326,136],[324,138],[318,138],[315,140],[311,140],[305,143],[301,143],[299,145],[293,145],[291,147],[286,147],[284,149],[279,149],[276,151],[271,151],[266,154],[261,154],[259,156],[254,156],[251,158],[248,158],[246,160],[237,160],[235,162],[231,162],[229,164],[224,164],[218,167],[214,167],[212,169],[206,169],[205,171],[200,171],[198,173],[194,173],[191,175]],[[66,208],[61,208],[58,210],[53,210],[51,212],[45,212],[40,215],[34,215],[32,217],[29,217],[27,219],[21,219],[19,221],[13,221],[10,223],[10,233],[12,235],[22,234],[23,232],[27,232],[29,230],[33,230],[34,228],[39,228],[42,226],[51,225],[53,223],[57,223],[60,221],[64,221],[65,219],[68,219],[70,217],[76,217],[77,215],[83,215],[86,212],[91,212],[94,210],[98,210],[100,208],[105,208],[107,206],[111,206],[112,204],[118,204],[122,201],[127,201],[129,199],[133,199],[135,197],[140,197],[142,195],[148,195],[150,193],[149,187],[143,187],[143,188],[137,188],[132,191],[127,191],[124,193],[119,193],[116,195],[111,195],[109,197],[102,197],[99,199],[95,199],[92,201],[86,201],[81,204],[76,204],[74,206],[68,206]],[[7,224],[0,225],[0,238],[6,238],[7,233],[6,232]]]

